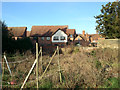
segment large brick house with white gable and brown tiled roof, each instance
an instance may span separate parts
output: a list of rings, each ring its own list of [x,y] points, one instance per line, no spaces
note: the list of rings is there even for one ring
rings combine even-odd
[[[66,45],[69,40],[74,40],[75,29],[63,26],[32,26],[30,38],[41,46]]]

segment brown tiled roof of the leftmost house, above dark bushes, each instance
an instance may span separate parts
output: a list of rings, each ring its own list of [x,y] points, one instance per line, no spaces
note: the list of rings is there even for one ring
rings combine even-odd
[[[8,30],[14,35],[14,37],[22,37],[27,30],[27,27],[8,27]]]

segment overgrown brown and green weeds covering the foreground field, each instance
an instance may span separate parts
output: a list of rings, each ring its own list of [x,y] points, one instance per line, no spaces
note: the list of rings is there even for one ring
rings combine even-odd
[[[87,51],[80,47],[71,48],[72,52],[60,54],[60,65],[62,73],[62,83],[59,81],[58,65],[55,56],[45,76],[39,81],[39,88],[120,88],[118,81],[118,50],[110,48],[99,48]],[[26,54],[27,55],[27,54]],[[14,58],[17,56],[14,56]],[[28,61],[10,64],[13,79],[16,85],[10,85],[9,72],[5,69],[4,85],[8,87],[20,88],[27,73],[29,72],[35,56],[31,53],[27,56],[19,55],[15,61],[28,57]],[[43,56],[43,67],[46,68],[51,56]],[[8,57],[11,61],[13,57]],[[22,67],[21,67],[22,66]],[[40,62],[39,62],[40,66]],[[5,66],[6,67],[6,66]],[[8,76],[6,76],[8,75]],[[39,76],[41,70],[39,69]],[[35,68],[29,77],[25,88],[36,88]],[[3,85],[3,86],[4,86]],[[4,86],[5,88],[6,86]]]

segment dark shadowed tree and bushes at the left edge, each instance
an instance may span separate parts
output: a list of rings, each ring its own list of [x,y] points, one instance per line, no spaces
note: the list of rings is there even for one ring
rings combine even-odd
[[[2,52],[7,53],[15,53],[19,51],[23,53],[27,50],[31,50],[33,48],[32,42],[30,38],[22,38],[19,40],[14,40],[12,38],[13,34],[8,30],[7,25],[0,21],[2,28]]]

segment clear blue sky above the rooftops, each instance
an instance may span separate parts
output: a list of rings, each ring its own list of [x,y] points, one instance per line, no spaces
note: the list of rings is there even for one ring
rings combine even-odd
[[[107,2],[2,2],[2,21],[8,27],[68,25],[77,33],[96,33],[94,16]]]

